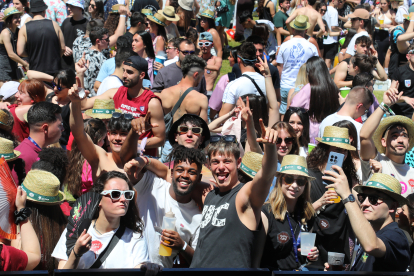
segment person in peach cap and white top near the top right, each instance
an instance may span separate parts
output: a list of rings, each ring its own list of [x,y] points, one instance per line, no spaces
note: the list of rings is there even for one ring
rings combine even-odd
[[[348,48],[344,55],[344,59],[350,58],[355,55],[355,41],[360,36],[369,36],[368,32],[366,31],[368,22],[369,22],[369,12],[364,9],[356,9],[355,12],[348,15],[351,18],[351,28],[356,30],[356,35],[354,35],[351,41],[348,44]]]

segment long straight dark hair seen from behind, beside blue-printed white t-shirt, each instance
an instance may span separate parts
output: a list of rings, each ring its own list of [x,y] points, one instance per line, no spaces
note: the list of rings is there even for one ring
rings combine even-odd
[[[335,113],[339,108],[338,87],[329,74],[328,67],[320,57],[311,57],[306,62],[311,87],[309,103],[309,118],[321,123],[327,116]]]

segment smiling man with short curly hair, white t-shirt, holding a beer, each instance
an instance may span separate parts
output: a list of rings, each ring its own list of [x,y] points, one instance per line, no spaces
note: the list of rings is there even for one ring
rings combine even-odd
[[[200,186],[205,155],[198,149],[180,145],[174,149],[172,161],[174,167],[171,170],[171,183],[165,180],[169,179],[168,168],[160,163],[159,170],[154,171],[163,178],[149,170],[142,171],[151,165],[150,162],[156,162],[152,159],[137,158],[125,165],[131,181],[139,180],[134,188],[138,194],[139,213],[145,225],[150,260],[166,268],[172,268],[178,254],[188,265],[191,264],[202,217],[192,195],[194,188]],[[199,194],[201,199],[201,192]],[[163,217],[169,211],[176,218],[175,231],[162,229]],[[171,256],[160,256],[160,244],[172,248]]]

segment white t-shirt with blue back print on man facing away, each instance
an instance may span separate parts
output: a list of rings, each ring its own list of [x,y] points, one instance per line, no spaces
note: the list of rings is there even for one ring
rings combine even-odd
[[[318,49],[304,38],[292,37],[283,43],[276,59],[277,63],[283,64],[280,87],[293,88],[299,68],[313,56],[319,56]]]

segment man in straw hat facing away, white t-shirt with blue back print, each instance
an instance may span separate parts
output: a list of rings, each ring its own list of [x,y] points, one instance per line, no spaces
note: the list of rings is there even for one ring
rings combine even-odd
[[[299,68],[306,63],[310,57],[318,56],[318,49],[305,39],[306,30],[310,27],[308,17],[299,15],[290,23],[293,29],[293,37],[280,46],[277,55],[277,69],[280,77],[280,114],[286,113],[287,97],[289,90],[295,86]]]

